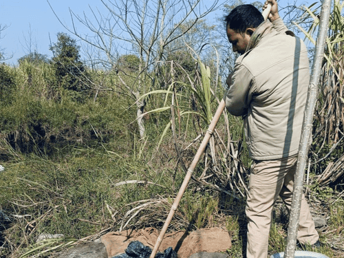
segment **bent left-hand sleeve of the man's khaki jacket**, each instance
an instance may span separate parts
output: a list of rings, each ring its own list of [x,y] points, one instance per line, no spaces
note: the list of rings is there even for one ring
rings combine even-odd
[[[228,81],[228,80],[227,80]],[[224,95],[226,109],[233,116],[244,116],[250,105],[253,77],[244,65],[237,63],[231,76],[229,89]]]

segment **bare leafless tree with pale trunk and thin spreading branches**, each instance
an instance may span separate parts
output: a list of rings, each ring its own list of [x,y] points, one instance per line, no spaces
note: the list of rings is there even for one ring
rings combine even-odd
[[[118,69],[119,53],[136,54],[140,67],[135,83],[122,87],[131,95],[137,105],[140,136],[144,136],[142,114],[147,99],[144,94],[155,89],[158,66],[164,60],[167,48],[171,51],[173,42],[191,30],[197,21],[219,8],[219,1],[204,0],[100,0],[107,11],[100,12],[90,7],[91,16],[80,16],[70,10],[72,25],[65,28],[85,43],[98,49],[102,58],[98,60],[107,69]],[[56,15],[56,17],[58,17]],[[193,21],[187,23],[186,21]],[[61,22],[62,23],[62,22]],[[184,25],[183,30],[178,30]],[[89,34],[78,29],[86,28]],[[178,32],[178,33],[177,33]]]

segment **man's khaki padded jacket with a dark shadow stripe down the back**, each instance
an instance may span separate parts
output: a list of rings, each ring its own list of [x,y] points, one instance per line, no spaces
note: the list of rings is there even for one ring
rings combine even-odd
[[[230,76],[226,108],[234,116],[244,116],[250,158],[297,154],[310,80],[303,41],[281,19],[264,21]]]

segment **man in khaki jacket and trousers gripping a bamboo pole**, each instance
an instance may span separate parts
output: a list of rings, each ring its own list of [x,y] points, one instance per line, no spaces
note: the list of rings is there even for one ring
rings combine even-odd
[[[241,54],[228,76],[226,108],[244,117],[252,166],[246,204],[247,258],[268,256],[272,206],[292,202],[303,111],[310,80],[308,53],[279,17],[277,2],[268,20],[254,6],[237,6],[226,17],[228,41]],[[319,244],[304,196],[297,239]]]

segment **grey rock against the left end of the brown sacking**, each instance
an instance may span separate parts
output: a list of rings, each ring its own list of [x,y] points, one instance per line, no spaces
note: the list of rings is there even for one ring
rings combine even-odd
[[[58,258],[107,258],[107,250],[103,243],[87,243],[67,250]]]

